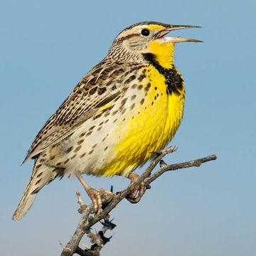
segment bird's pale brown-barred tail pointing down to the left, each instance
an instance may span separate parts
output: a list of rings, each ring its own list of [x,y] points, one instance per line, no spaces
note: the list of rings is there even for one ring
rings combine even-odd
[[[36,199],[36,195],[41,188],[58,176],[58,169],[53,169],[48,166],[42,166],[39,169],[34,169],[12,219],[21,220],[21,218],[23,218],[31,208],[33,201]]]

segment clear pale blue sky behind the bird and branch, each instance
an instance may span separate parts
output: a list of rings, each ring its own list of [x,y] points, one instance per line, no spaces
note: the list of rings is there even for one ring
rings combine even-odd
[[[117,33],[145,20],[202,26],[173,33],[204,43],[176,46],[186,109],[171,142],[179,149],[166,161],[218,160],[164,174],[138,205],[122,202],[102,255],[255,255],[255,9],[254,0],[1,1],[1,255],[59,255],[59,241],[73,234],[75,191],[82,191],[75,178],[50,183],[23,220],[11,221],[33,166],[21,161]],[[87,181],[117,190],[128,184],[120,177]]]

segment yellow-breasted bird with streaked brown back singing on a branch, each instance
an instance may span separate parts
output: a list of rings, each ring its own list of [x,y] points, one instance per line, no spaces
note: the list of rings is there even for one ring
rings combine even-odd
[[[38,132],[23,163],[34,160],[13,219],[31,208],[37,193],[55,178],[76,176],[100,213],[105,189],[92,188],[82,174],[123,176],[169,144],[183,118],[185,83],[174,65],[174,47],[191,38],[166,36],[198,26],[143,21],[125,28],[107,56],[78,82],[70,95]],[[142,182],[127,197],[137,203]]]

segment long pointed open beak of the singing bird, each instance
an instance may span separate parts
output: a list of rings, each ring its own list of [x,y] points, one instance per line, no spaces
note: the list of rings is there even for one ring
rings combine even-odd
[[[169,25],[168,28],[165,28],[159,32],[156,33],[156,39],[164,38],[166,34],[168,34],[171,31],[183,29],[183,28],[201,28],[200,26],[187,26],[187,25]],[[165,38],[166,43],[182,43],[182,42],[195,42],[200,43],[203,41],[192,39],[192,38],[181,38],[181,37],[166,37]]]

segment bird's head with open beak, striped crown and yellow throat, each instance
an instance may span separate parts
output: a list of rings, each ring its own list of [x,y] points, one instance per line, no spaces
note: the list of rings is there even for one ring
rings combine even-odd
[[[141,62],[145,55],[154,58],[164,67],[173,63],[174,45],[181,42],[201,42],[191,38],[167,37],[166,35],[181,28],[198,26],[169,25],[155,21],[144,21],[125,28],[115,38],[109,55],[123,62]]]

